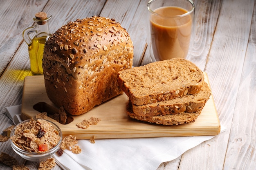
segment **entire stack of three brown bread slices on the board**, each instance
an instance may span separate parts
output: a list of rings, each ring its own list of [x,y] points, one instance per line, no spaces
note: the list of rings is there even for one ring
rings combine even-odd
[[[120,71],[118,84],[128,116],[163,125],[194,122],[211,95],[200,68],[182,58]]]

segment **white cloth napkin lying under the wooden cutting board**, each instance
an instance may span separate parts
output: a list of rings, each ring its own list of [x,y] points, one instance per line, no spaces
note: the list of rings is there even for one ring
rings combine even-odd
[[[10,119],[20,114],[7,108]],[[11,118],[12,117],[12,118]],[[221,126],[220,132],[226,128]],[[54,154],[64,170],[156,170],[162,162],[171,161],[203,141],[215,136],[156,137],[134,139],[79,139],[82,152],[74,154],[65,149],[62,156]]]

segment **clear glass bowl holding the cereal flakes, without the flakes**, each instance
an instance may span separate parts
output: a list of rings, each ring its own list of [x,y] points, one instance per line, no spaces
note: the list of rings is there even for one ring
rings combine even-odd
[[[13,130],[11,131],[10,134],[10,138],[15,136],[15,129],[20,125],[20,124],[25,124],[26,122],[29,122],[31,119],[25,120],[20,122],[19,124],[17,124],[16,126],[14,126]],[[36,119],[34,119],[36,120]],[[58,143],[56,144],[56,146],[54,146],[53,148],[50,148],[47,151],[39,151],[39,152],[29,152],[27,150],[23,150],[21,148],[19,148],[18,146],[16,146],[16,144],[13,143],[13,141],[11,140],[11,148],[18,154],[20,155],[20,157],[29,160],[29,161],[44,161],[45,159],[51,157],[51,155],[53,155],[54,153],[56,153],[58,151],[58,149],[61,147],[61,142],[62,142],[62,132],[61,129],[54,124],[52,121],[49,120],[45,120],[48,121],[50,124],[52,124],[52,126],[54,127],[54,130],[56,130],[58,132],[58,136],[60,136],[60,140],[58,141]]]

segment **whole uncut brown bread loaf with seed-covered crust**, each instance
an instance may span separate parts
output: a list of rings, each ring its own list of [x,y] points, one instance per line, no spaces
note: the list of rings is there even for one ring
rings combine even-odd
[[[118,72],[132,67],[130,35],[113,19],[93,16],[65,24],[46,42],[43,54],[49,99],[81,115],[121,93]]]

